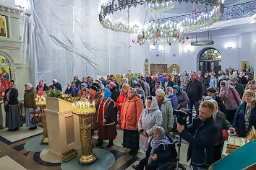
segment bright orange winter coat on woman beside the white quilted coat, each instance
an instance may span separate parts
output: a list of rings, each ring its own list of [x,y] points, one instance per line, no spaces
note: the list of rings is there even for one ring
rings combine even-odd
[[[143,104],[140,97],[137,95],[132,99],[127,97],[121,107],[122,114],[119,117],[119,119],[121,119],[121,129],[138,130],[138,122],[142,109]]]

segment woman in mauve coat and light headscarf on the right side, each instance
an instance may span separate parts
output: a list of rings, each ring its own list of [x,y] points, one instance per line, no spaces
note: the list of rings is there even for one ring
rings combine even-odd
[[[219,96],[223,99],[223,103],[226,106],[226,120],[232,124],[236,109],[241,103],[241,99],[236,89],[229,85],[228,81],[221,81],[221,89]]]

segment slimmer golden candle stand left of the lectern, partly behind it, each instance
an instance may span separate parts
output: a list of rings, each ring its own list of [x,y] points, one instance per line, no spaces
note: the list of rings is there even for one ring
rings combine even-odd
[[[42,113],[42,123],[43,123],[43,139],[41,140],[41,144],[48,145],[48,131],[47,131],[47,124],[46,124],[46,97],[43,96],[37,96],[35,99],[35,105],[40,107],[41,113]]]

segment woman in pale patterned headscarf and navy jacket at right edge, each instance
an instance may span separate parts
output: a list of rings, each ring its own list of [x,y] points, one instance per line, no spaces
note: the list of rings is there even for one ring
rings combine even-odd
[[[233,127],[239,137],[244,137],[252,126],[256,127],[255,92],[245,91],[243,99],[244,102],[236,110],[233,122]]]

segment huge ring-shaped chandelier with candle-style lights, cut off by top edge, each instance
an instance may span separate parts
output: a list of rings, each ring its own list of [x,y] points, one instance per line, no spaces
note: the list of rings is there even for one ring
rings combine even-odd
[[[196,9],[192,14],[177,17],[161,18],[150,21],[148,24],[130,23],[129,9],[138,4],[144,5],[148,12],[164,12],[174,8],[175,1],[180,4],[205,4],[205,9]],[[126,9],[128,19],[112,19],[110,14]],[[208,9],[209,8],[209,9]],[[137,40],[132,40],[139,45],[163,44],[171,45],[173,42],[184,43],[189,37],[184,37],[184,32],[200,30],[209,27],[221,19],[223,14],[223,0],[103,0],[100,5],[99,21],[109,30],[137,34]]]

